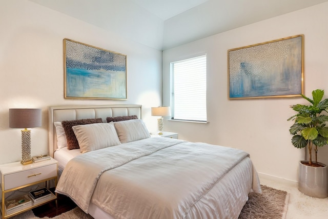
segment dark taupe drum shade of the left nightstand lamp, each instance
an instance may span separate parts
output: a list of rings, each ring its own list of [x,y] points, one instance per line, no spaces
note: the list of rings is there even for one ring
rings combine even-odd
[[[10,128],[40,127],[41,109],[9,109]]]

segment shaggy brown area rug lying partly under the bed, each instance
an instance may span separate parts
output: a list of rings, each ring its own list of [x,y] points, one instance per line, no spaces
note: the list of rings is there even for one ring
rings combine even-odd
[[[286,216],[289,194],[286,191],[277,190],[268,186],[261,186],[262,194],[252,192],[249,194],[249,201],[245,204],[238,219],[284,219]],[[38,219],[33,212],[27,211],[11,219]],[[78,207],[67,211],[52,219],[92,219],[90,215],[84,213]],[[49,217],[43,217],[49,219]]]

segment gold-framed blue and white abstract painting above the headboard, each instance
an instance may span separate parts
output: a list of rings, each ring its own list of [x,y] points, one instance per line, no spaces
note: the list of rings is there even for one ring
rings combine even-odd
[[[127,98],[126,55],[64,39],[66,98]]]

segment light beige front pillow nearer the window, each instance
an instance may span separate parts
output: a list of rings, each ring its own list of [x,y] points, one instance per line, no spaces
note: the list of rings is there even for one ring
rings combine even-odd
[[[121,143],[133,142],[150,137],[149,131],[142,120],[126,120],[114,122]]]

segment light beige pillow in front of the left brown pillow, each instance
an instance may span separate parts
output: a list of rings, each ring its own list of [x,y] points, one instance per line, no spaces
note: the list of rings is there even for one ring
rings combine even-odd
[[[113,123],[94,123],[72,127],[82,153],[120,145]]]

